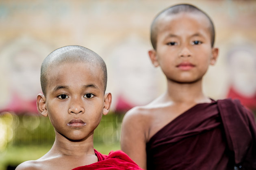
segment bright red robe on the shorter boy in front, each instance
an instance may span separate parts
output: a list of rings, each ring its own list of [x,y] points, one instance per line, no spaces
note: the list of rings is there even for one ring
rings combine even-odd
[[[73,170],[142,170],[123,151],[111,151],[108,155],[101,154],[94,149],[98,162],[80,166]]]

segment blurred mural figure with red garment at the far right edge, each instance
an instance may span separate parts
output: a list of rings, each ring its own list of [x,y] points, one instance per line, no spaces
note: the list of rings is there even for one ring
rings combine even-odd
[[[230,86],[227,97],[239,99],[256,113],[256,47],[236,45],[227,54]]]

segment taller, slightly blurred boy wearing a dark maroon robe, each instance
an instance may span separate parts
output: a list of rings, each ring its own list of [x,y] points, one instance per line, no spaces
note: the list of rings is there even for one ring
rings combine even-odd
[[[213,22],[195,6],[171,6],[154,19],[149,56],[165,74],[167,90],[128,111],[121,133],[121,149],[141,168],[256,169],[252,112],[202,92],[202,78],[218,56],[214,39]]]

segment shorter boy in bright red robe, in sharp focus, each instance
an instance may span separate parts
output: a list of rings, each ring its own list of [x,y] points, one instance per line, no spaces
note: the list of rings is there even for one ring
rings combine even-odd
[[[37,109],[49,116],[55,142],[43,157],[17,170],[141,169],[122,151],[103,155],[93,148],[94,129],[111,106],[106,82],[105,62],[85,47],[66,46],[49,54],[41,66],[43,94],[37,96]]]

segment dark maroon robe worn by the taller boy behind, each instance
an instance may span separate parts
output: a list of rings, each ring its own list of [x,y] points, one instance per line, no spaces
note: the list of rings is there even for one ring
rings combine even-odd
[[[160,129],[146,144],[147,169],[256,168],[253,114],[230,99],[200,103]]]

